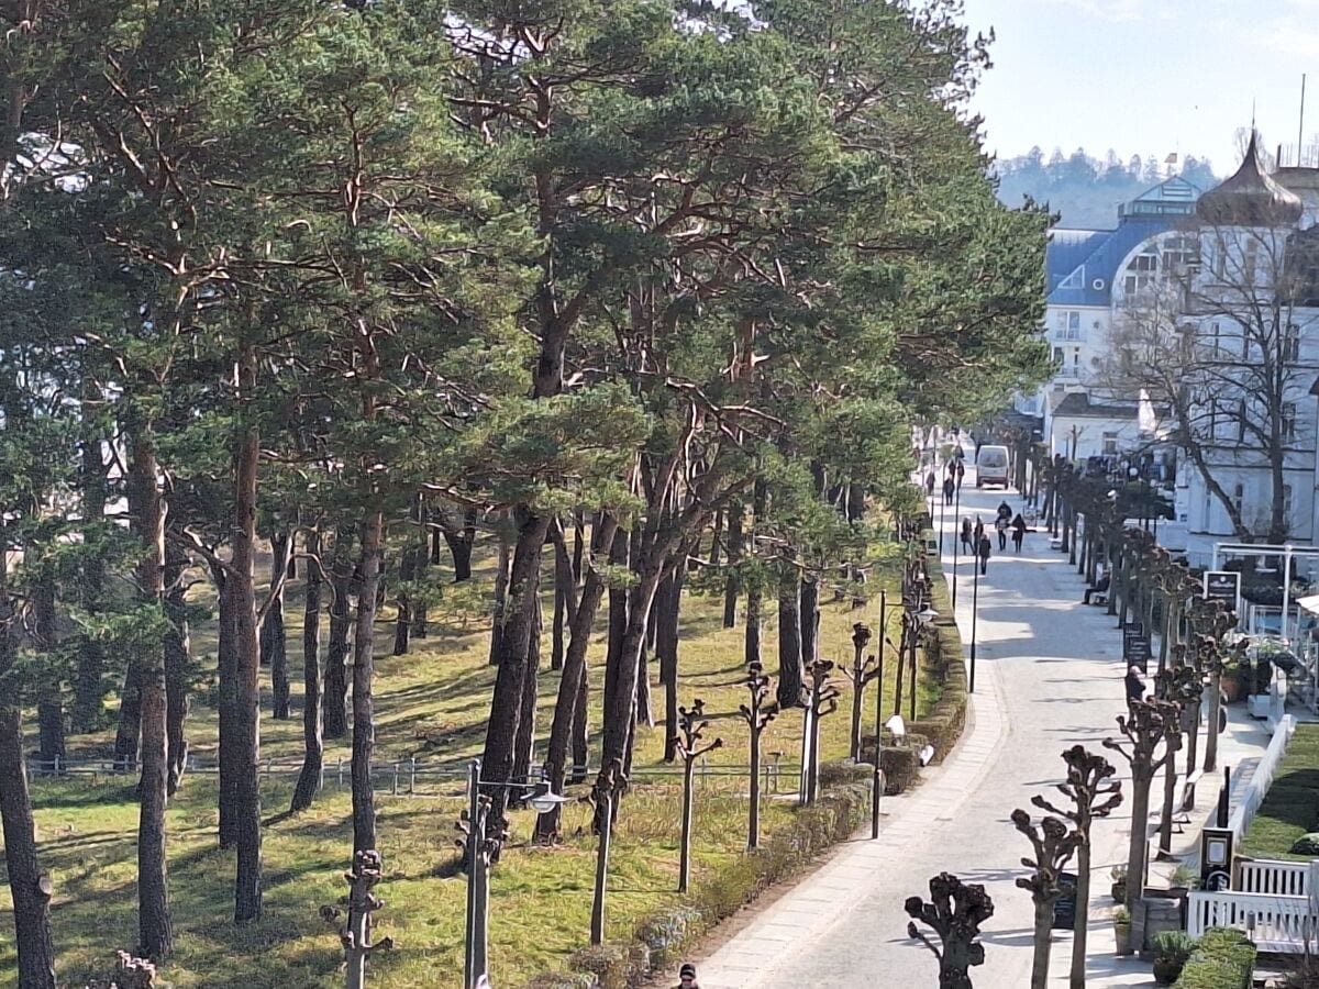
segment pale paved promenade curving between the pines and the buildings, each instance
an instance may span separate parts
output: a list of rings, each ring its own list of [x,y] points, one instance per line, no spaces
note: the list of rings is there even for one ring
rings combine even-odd
[[[977,492],[968,468],[963,516],[973,520],[979,513],[988,525],[1002,498],[997,491]],[[1016,494],[1006,500],[1014,512],[1020,509]],[[950,508],[944,537],[950,578],[955,527]],[[1064,748],[1082,742],[1099,750],[1124,709],[1113,618],[1103,608],[1082,607],[1082,591],[1075,567],[1049,549],[1046,533],[1028,534],[1020,556],[1010,542],[998,554],[995,542],[988,575],[980,580],[976,694],[958,752],[910,794],[885,799],[878,841],[852,841],[704,959],[702,986],[934,985],[935,959],[906,936],[902,901],[927,895],[930,877],[942,870],[983,882],[995,901],[984,934],[987,961],[973,972],[977,989],[1030,984],[1031,905],[1029,894],[1013,886],[1024,874],[1020,860],[1029,844],[1009,815],[1016,807],[1034,810],[1030,796],[1047,793],[1062,778]],[[971,604],[972,568],[962,556],[956,618],[968,644]],[[1125,764],[1115,765],[1125,781]],[[1125,847],[1130,822],[1122,810],[1097,825],[1096,876],[1107,877]],[[1107,890],[1107,882],[1101,885]],[[1055,973],[1066,971],[1070,952],[1071,935],[1055,935]],[[1149,984],[1148,974],[1115,978],[1119,973],[1109,959],[1097,960],[1095,974],[1101,972],[1108,977],[1096,984]]]

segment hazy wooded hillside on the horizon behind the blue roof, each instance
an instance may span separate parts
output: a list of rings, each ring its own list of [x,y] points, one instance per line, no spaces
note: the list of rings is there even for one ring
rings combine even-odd
[[[1175,164],[1138,154],[1124,162],[1112,149],[1103,158],[1092,158],[1083,148],[1066,157],[1055,148],[1046,161],[1038,146],[1016,158],[1000,158],[995,174],[998,199],[1006,206],[1020,207],[1029,196],[1060,214],[1060,225],[1095,229],[1112,228],[1120,203],[1134,199],[1170,174],[1182,175],[1202,191],[1221,181],[1215,178],[1208,160],[1192,154]]]

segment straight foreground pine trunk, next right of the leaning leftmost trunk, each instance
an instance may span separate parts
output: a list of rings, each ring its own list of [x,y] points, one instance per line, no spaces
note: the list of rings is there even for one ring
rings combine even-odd
[[[137,591],[161,605],[165,570],[165,505],[157,484],[156,439],[146,423],[132,431],[128,510],[140,542]],[[165,804],[169,799],[169,734],[165,713],[164,644],[133,658],[141,698],[141,764],[137,818],[137,949],[156,961],[174,952],[165,857]]]

